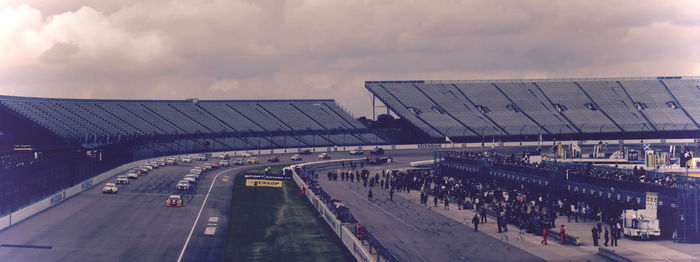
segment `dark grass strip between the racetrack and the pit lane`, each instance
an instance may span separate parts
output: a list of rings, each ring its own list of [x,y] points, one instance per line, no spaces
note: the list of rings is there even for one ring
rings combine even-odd
[[[294,181],[255,191],[243,173],[264,167],[236,176],[224,261],[354,261]]]

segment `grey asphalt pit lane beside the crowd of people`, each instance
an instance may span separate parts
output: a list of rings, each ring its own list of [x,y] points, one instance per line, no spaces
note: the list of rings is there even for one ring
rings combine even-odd
[[[432,152],[399,151],[394,156],[396,161],[391,165],[365,168],[381,177],[382,169],[404,168],[411,161],[431,159]],[[387,190],[374,187],[373,200],[368,201],[369,187],[365,188],[357,180],[328,181],[327,172],[328,169],[319,171],[323,189],[331,197],[341,199],[353,216],[401,261],[543,261],[396,194],[394,200],[389,201]],[[430,200],[432,204],[432,197]],[[452,205],[451,208],[457,207]]]

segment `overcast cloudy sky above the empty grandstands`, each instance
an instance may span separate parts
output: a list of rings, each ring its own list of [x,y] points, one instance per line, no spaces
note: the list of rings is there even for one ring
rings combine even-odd
[[[700,1],[0,0],[0,95],[335,99],[369,80],[700,75]]]

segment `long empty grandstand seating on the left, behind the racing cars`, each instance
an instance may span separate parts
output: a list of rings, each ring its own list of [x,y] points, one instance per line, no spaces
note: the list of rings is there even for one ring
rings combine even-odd
[[[66,139],[257,133],[212,147],[269,148],[386,143],[333,100],[82,100],[0,96],[0,104]],[[271,137],[266,133],[275,132]],[[280,133],[281,132],[281,133]],[[316,132],[317,135],[299,134]],[[285,137],[285,134],[287,137]],[[254,141],[253,141],[254,140]]]

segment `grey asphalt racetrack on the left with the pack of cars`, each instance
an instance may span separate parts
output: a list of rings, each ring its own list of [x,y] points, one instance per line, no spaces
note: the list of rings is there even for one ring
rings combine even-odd
[[[260,157],[261,161],[266,159],[267,156]],[[290,163],[288,154],[280,155],[280,160]],[[207,162],[215,161],[219,160],[212,158]],[[177,182],[193,166],[203,163],[206,162],[193,161],[153,169],[131,179],[129,185],[118,185],[117,194],[102,193],[104,183],[114,181],[108,179],[0,231],[0,261],[178,261],[186,242],[181,261],[221,261],[234,176],[253,166],[279,163],[213,169],[200,178],[191,192],[182,194],[183,207],[166,207],[168,195],[178,193]],[[210,187],[211,193],[202,207]],[[210,223],[210,217],[219,220]],[[204,235],[208,225],[216,227],[213,236]]]

